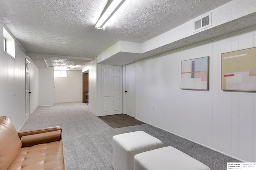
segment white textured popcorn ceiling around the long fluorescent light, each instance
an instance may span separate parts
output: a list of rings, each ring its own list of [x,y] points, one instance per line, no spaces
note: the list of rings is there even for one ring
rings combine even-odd
[[[86,66],[120,40],[143,43],[230,1],[128,0],[106,30],[94,25],[108,0],[2,0],[0,18],[27,53],[37,54],[30,58],[38,67],[65,68]]]

